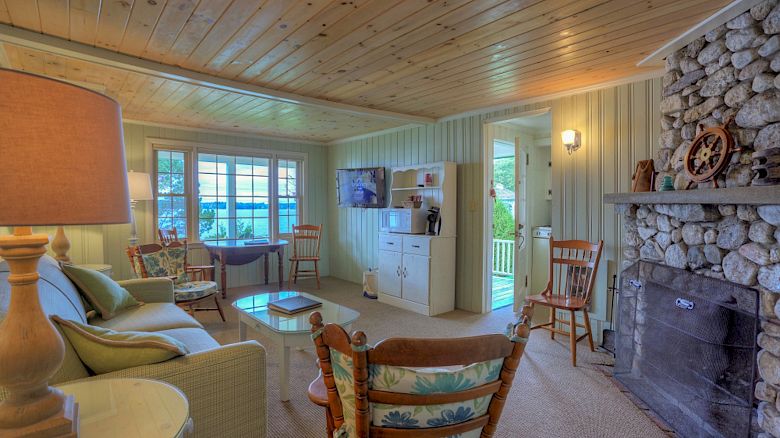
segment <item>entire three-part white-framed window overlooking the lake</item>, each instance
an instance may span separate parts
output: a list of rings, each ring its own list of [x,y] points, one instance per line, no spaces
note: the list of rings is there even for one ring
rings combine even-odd
[[[153,147],[157,229],[175,226],[192,241],[249,240],[291,234],[301,223],[302,156],[183,142]]]

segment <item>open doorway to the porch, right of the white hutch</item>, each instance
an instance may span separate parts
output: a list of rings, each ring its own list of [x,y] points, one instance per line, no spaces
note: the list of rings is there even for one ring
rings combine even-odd
[[[532,230],[549,227],[549,110],[488,121],[485,134],[485,311],[525,301],[533,284]],[[541,250],[537,249],[537,252]],[[538,262],[537,262],[538,264]],[[546,271],[542,269],[543,273]],[[537,274],[541,276],[541,274]]]

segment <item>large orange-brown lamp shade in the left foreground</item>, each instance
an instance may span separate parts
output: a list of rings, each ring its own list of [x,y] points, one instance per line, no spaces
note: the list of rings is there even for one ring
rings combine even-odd
[[[130,222],[122,113],[102,94],[0,69],[0,225]]]

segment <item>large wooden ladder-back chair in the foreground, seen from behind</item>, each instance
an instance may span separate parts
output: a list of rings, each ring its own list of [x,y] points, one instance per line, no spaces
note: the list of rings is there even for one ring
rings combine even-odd
[[[531,312],[523,307],[506,334],[390,338],[374,347],[363,332],[350,338],[313,312],[321,374],[309,399],[326,407],[329,436],[492,437],[528,342]]]

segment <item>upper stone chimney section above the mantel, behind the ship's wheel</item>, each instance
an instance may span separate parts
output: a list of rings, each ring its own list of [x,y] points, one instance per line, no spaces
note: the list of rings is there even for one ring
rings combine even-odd
[[[780,146],[780,5],[767,0],[666,58],[661,100],[662,133],[656,187],[673,178],[688,187],[685,153],[699,125],[723,124],[742,153],[719,178],[720,187],[751,185],[751,154]],[[695,184],[692,188],[695,188]]]

